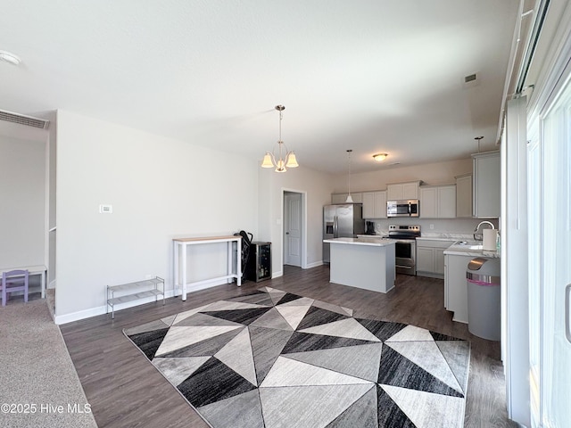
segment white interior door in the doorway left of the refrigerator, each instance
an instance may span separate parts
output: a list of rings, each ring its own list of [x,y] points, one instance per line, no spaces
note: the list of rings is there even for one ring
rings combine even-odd
[[[284,264],[302,266],[302,193],[284,193]]]

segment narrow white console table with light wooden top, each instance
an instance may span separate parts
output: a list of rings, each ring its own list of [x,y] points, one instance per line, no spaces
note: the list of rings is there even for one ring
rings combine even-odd
[[[242,236],[228,235],[228,236],[208,236],[199,238],[175,238],[172,240],[174,245],[173,251],[173,283],[175,295],[178,296],[178,287],[182,290],[182,300],[186,300],[186,287],[188,285],[208,284],[223,279],[228,280],[231,284],[236,278],[236,284],[242,285]],[[194,283],[187,282],[186,275],[186,248],[188,245],[199,245],[203,243],[228,243],[228,271],[225,276],[218,276],[216,278],[205,279],[203,281],[196,281]],[[232,243],[236,243],[236,273],[233,272],[232,265],[234,262],[234,251],[232,250]],[[180,259],[180,262],[179,262]],[[179,267],[180,263],[180,267]],[[180,268],[180,269],[179,269]],[[182,275],[180,275],[182,271]],[[182,276],[182,277],[181,277]]]

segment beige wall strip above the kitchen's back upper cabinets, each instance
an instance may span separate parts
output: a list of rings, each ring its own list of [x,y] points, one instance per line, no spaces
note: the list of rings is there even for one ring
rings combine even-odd
[[[371,162],[373,160],[371,159]],[[455,176],[472,172],[472,159],[425,163],[410,167],[382,167],[377,171],[351,175],[352,192],[385,190],[390,183],[422,180],[426,185],[455,183]],[[347,192],[347,171],[333,177],[335,193]]]

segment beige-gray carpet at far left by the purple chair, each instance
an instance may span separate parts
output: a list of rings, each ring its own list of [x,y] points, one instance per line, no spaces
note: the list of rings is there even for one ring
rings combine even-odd
[[[91,407],[48,309],[54,290],[13,296],[0,306],[0,426],[97,428]]]

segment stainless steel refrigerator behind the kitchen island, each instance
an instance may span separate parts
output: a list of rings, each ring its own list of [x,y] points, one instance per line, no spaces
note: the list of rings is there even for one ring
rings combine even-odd
[[[339,203],[323,207],[323,239],[355,237],[365,233],[363,205]],[[323,243],[323,261],[329,263],[329,243]]]

